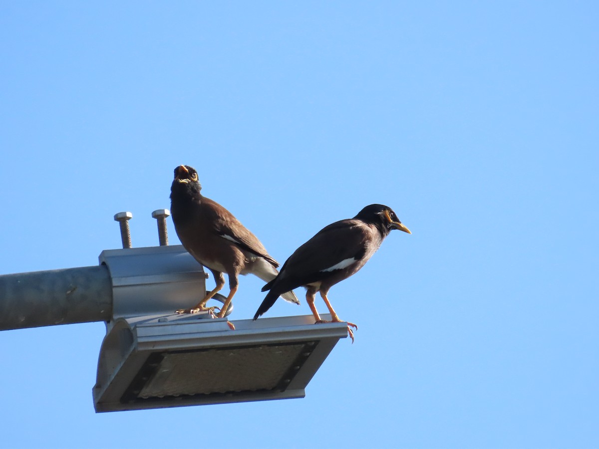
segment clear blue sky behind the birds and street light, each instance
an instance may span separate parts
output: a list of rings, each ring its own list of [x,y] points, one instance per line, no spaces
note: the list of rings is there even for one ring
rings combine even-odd
[[[0,447],[598,447],[598,13],[1,2],[0,273],[96,265],[123,210],[156,245],[180,163],[280,262],[375,202],[413,234],[331,289],[305,399],[95,414],[102,323],[0,332]]]

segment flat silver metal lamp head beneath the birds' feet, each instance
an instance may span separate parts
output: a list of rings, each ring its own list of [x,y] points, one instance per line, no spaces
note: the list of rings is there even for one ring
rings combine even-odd
[[[102,343],[96,412],[303,398],[345,323],[312,315],[233,321],[122,318]]]

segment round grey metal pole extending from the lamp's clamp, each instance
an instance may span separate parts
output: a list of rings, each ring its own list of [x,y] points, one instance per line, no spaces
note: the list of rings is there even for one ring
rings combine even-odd
[[[112,305],[104,265],[0,275],[0,330],[107,321]]]

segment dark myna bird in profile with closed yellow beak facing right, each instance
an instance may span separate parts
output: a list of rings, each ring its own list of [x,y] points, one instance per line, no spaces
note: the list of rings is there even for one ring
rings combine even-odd
[[[269,292],[254,315],[254,320],[270,309],[280,295],[303,286],[306,289],[305,299],[316,323],[341,322],[326,297],[329,289],[362,268],[393,229],[412,233],[391,208],[382,204],[371,204],[353,219],[326,226],[297,248],[283,264],[279,275],[262,288],[262,292]],[[320,319],[314,306],[316,292],[320,292],[329,309],[331,321]],[[348,322],[347,332],[353,342],[352,327],[358,329],[358,326]]]

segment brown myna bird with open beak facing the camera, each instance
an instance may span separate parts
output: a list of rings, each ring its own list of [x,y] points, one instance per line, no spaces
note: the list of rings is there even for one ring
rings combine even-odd
[[[171,216],[181,244],[212,272],[216,287],[195,307],[177,313],[213,311],[214,307],[208,308],[205,304],[225,285],[224,272],[229,277],[230,291],[217,315],[222,318],[237,292],[238,275],[252,273],[268,282],[278,274],[279,263],[228,210],[202,196],[201,189],[198,172],[189,165],[178,166],[171,184]],[[294,292],[289,290],[283,292],[283,298],[299,304]],[[229,326],[234,329],[231,323]]]

